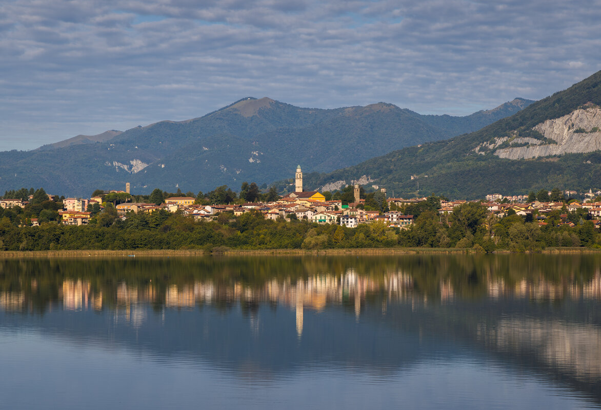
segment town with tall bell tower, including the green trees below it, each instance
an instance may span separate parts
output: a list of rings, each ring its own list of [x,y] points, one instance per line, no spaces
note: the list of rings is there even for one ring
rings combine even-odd
[[[243,182],[239,193],[226,185],[209,193],[168,193],[153,190],[150,195],[133,195],[125,190],[96,190],[90,198],[59,197],[21,188],[5,192],[0,199],[1,250],[59,249],[333,249],[366,247],[474,248],[495,250],[540,250],[546,247],[599,246],[601,192],[540,190],[528,195],[490,194],[476,201],[449,200],[436,196],[403,199],[388,197],[385,188],[366,193],[359,184],[332,192],[305,191],[301,166],[296,169],[294,191],[280,196],[275,187],[267,192],[252,182]],[[169,222],[171,218],[171,222]],[[198,224],[212,224],[213,234],[204,238],[175,241],[169,237],[175,219],[185,220],[192,232]],[[254,221],[249,228],[245,223]],[[263,220],[264,223],[258,223]],[[246,221],[246,222],[245,222]],[[272,222],[275,225],[266,225]],[[178,222],[182,224],[183,222]],[[285,225],[281,225],[281,224]],[[296,228],[297,225],[303,228]],[[194,225],[196,224],[196,225]],[[248,223],[247,223],[248,225]],[[53,241],[8,231],[65,226],[79,229],[150,230],[145,240],[105,244],[103,235],[87,243],[73,243],[67,237],[81,237],[72,231],[56,231]],[[200,225],[198,225],[200,226]],[[294,238],[282,239],[273,231],[287,226]],[[274,228],[278,227],[278,228]],[[336,228],[338,227],[338,228]],[[63,228],[60,228],[63,229]],[[154,232],[162,229],[164,232]],[[200,228],[198,228],[200,229]],[[263,240],[252,238],[263,229]],[[12,231],[11,231],[12,232]],[[19,231],[20,232],[20,231]],[[25,232],[25,231],[23,231]],[[29,232],[29,231],[27,231]],[[251,232],[243,240],[243,234]],[[236,234],[237,238],[232,238]],[[24,235],[24,236],[23,236]],[[28,235],[30,238],[28,238]],[[112,234],[114,235],[114,234]],[[120,234],[121,235],[121,234]],[[280,238],[276,238],[279,235]],[[10,236],[10,235],[9,235]],[[17,238],[18,237],[18,238]],[[269,238],[268,238],[269,237]],[[267,239],[268,238],[268,239]],[[62,241],[62,242],[61,242]],[[41,243],[43,242],[43,243]]]

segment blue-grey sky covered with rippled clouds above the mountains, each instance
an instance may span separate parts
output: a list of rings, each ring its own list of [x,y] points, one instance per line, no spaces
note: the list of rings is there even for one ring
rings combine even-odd
[[[601,69],[601,0],[4,0],[0,151],[243,97],[468,115]]]

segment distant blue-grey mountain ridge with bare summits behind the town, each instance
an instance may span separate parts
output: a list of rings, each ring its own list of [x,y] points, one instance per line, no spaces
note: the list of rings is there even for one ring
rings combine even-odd
[[[301,163],[329,172],[394,149],[473,131],[532,101],[517,99],[466,117],[420,115],[393,104],[302,108],[245,97],[186,121],[77,136],[33,151],[0,152],[0,191],[44,187],[87,195],[131,182],[135,193],[239,188],[281,179]]]

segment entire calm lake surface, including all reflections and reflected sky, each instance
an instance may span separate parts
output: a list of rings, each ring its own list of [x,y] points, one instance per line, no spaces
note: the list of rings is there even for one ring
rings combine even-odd
[[[601,408],[601,255],[0,261],[0,408]]]

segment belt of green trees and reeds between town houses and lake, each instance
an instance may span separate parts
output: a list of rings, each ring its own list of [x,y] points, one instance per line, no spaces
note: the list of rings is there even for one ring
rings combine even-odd
[[[452,213],[441,213],[440,204],[438,197],[430,196],[427,200],[406,205],[401,212],[413,216],[413,223],[406,226],[376,220],[354,228],[341,223],[310,222],[305,218],[286,220],[278,216],[266,219],[258,210],[242,214],[223,211],[213,217],[214,220],[197,220],[182,210],[174,213],[130,211],[121,218],[108,204],[105,211],[87,225],[41,222],[39,226],[29,226],[23,224],[25,214],[17,215],[13,211],[20,208],[13,207],[0,210],[0,251],[47,252],[41,255],[73,255],[70,251],[79,251],[79,255],[85,257],[105,250],[109,252],[102,255],[159,253],[176,256],[519,253],[543,252],[557,247],[601,249],[601,232],[584,208],[569,212],[563,203],[561,210],[548,211],[545,216],[533,213],[519,216],[509,209],[505,216],[498,217],[479,202],[461,203],[453,207]],[[545,222],[538,222],[539,218]]]

